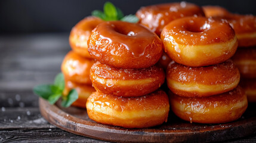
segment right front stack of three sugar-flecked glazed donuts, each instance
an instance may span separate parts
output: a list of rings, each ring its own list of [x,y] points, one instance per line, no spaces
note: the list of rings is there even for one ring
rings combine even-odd
[[[172,58],[166,70],[172,111],[196,123],[226,123],[248,106],[238,86],[240,73],[230,57],[238,40],[227,21],[185,17],[167,24],[161,33]]]

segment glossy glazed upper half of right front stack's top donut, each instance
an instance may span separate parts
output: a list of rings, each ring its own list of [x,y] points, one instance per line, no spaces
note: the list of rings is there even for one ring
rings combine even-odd
[[[162,36],[164,41],[173,39],[173,43],[182,45],[207,45],[232,41],[235,32],[227,21],[212,18],[190,17],[169,23]]]

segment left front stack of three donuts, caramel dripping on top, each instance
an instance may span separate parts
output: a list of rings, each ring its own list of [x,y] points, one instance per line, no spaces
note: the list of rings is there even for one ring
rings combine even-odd
[[[147,128],[167,121],[168,95],[159,87],[164,69],[161,39],[140,24],[107,21],[92,30],[88,52],[96,89],[87,101],[90,119],[124,128]]]

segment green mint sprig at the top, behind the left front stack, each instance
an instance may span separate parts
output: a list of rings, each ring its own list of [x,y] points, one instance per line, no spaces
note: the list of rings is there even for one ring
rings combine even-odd
[[[129,14],[125,16],[124,13],[122,13],[122,11],[118,7],[115,7],[111,2],[106,2],[104,4],[103,11],[94,10],[91,15],[99,17],[105,21],[121,20],[129,23],[138,22],[138,18],[135,15]]]

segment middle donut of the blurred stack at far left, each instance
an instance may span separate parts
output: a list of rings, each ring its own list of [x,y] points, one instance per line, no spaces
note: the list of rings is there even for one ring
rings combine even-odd
[[[91,85],[90,70],[93,64],[94,60],[70,51],[61,64],[61,71],[67,80]]]

